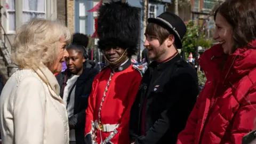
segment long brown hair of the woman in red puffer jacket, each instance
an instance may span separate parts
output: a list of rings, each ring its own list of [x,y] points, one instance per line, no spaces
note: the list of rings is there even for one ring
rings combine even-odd
[[[256,39],[256,1],[226,0],[215,12],[214,19],[217,13],[232,27],[234,50],[238,47],[255,48],[248,43]]]

